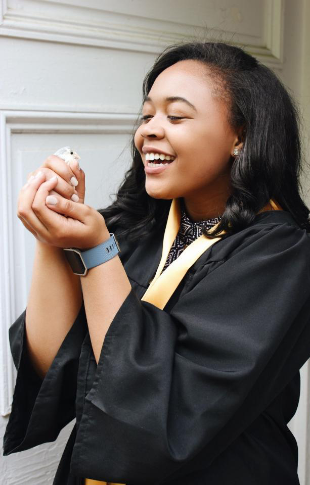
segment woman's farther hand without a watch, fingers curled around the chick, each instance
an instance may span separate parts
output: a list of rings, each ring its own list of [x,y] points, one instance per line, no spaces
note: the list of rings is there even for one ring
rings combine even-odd
[[[30,193],[24,190],[29,181],[33,180],[33,177],[39,171],[45,174],[45,180],[49,180],[55,175],[58,177],[58,182],[55,184],[54,190],[50,191],[50,195],[57,195],[58,193],[66,199],[74,200],[81,204],[84,203],[85,197],[85,174],[83,170],[79,169],[77,163],[69,166],[62,158],[55,155],[48,157],[37,170],[28,174],[27,183],[19,193],[17,216],[36,239],[46,243],[40,233],[40,229],[42,229],[40,221],[31,209],[33,198],[32,200],[29,199]],[[72,179],[72,177],[75,177],[76,180]],[[43,179],[41,178],[41,180]],[[76,181],[78,184],[74,186],[72,182],[76,184]]]

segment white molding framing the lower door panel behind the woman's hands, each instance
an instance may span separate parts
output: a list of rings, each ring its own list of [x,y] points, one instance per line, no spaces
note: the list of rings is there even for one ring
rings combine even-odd
[[[130,134],[137,120],[137,113],[66,113],[48,111],[7,110],[0,112],[0,413],[11,412],[16,369],[9,345],[9,327],[18,317],[15,292],[17,282],[14,273],[13,216],[11,190],[11,135],[13,133],[125,133]],[[21,266],[23,261],[21,261]],[[24,271],[21,269],[21,271]],[[23,288],[24,306],[26,290]]]

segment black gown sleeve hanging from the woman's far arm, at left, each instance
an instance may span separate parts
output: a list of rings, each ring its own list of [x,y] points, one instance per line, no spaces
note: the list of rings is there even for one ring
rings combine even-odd
[[[75,417],[78,361],[87,328],[84,304],[44,378],[35,372],[27,353],[25,316],[26,309],[9,329],[17,377],[4,456],[55,441]]]

